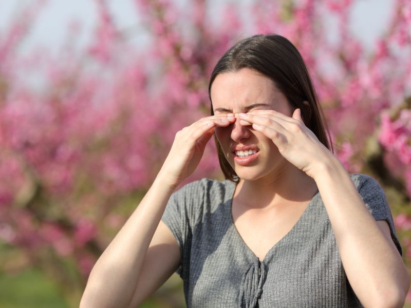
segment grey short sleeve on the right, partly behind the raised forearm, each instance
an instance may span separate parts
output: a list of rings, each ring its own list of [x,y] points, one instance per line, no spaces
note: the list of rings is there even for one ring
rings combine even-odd
[[[353,182],[365,205],[375,220],[385,220],[390,229],[391,238],[402,256],[402,248],[394,226],[393,215],[389,208],[384,189],[373,178],[367,175],[353,175]]]

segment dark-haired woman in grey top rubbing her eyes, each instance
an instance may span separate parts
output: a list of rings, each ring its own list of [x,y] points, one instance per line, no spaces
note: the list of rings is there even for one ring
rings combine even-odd
[[[81,306],[135,307],[177,270],[189,307],[402,307],[409,277],[384,192],[333,156],[295,47],[240,41],[209,93],[211,117],[176,134]],[[213,135],[227,180],[172,195]]]

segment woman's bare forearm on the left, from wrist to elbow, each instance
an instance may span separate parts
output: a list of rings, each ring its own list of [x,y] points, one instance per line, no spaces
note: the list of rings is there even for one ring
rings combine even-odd
[[[148,246],[174,186],[159,175],[90,273],[82,307],[122,307],[131,300]]]

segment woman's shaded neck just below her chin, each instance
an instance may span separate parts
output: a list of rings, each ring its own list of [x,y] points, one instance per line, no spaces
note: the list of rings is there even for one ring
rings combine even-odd
[[[247,208],[268,209],[309,201],[316,191],[315,181],[304,171],[289,163],[269,179],[255,181],[240,179],[234,197]],[[258,202],[255,202],[256,200]]]

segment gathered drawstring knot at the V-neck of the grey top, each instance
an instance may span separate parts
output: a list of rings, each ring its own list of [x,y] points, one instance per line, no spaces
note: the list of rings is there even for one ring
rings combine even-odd
[[[254,308],[258,298],[263,293],[263,285],[266,279],[266,269],[264,263],[258,259],[247,269],[242,276],[239,306]]]

